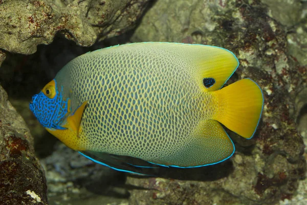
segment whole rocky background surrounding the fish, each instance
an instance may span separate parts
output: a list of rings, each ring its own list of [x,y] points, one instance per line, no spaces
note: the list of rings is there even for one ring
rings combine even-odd
[[[68,61],[144,41],[234,52],[240,66],[228,83],[249,77],[264,90],[256,136],[229,131],[230,160],[153,178],[96,165],[38,124],[31,96]],[[0,204],[307,204],[306,59],[302,0],[0,0]]]

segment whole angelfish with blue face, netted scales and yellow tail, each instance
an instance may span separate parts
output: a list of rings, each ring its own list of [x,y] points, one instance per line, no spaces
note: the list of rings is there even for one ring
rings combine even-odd
[[[251,138],[264,105],[251,79],[222,88],[238,65],[213,46],[113,46],[70,61],[30,109],[65,145],[116,170],[213,165],[234,153],[220,122]]]

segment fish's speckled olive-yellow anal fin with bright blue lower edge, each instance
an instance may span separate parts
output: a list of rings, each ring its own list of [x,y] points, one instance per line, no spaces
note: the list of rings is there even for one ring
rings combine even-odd
[[[230,158],[234,145],[216,120],[202,120],[196,126],[186,148],[169,159],[169,167],[195,168],[214,165]]]

